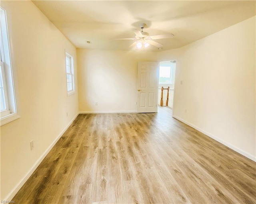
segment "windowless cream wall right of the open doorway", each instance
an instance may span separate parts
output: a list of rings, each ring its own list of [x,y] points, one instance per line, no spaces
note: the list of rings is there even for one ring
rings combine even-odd
[[[158,53],[158,61],[177,60],[174,116],[254,161],[255,45],[254,16]]]

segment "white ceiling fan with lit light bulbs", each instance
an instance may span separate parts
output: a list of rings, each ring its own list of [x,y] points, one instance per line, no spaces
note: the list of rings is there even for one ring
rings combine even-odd
[[[136,45],[138,49],[144,49],[148,47],[149,45],[153,45],[158,48],[162,48],[163,45],[154,41],[155,39],[165,39],[165,38],[171,38],[174,37],[174,35],[171,34],[165,34],[165,35],[149,35],[149,33],[144,32],[143,29],[146,26],[146,24],[142,23],[139,24],[141,31],[134,30],[135,37],[134,38],[118,38],[114,40],[136,40],[130,47]]]

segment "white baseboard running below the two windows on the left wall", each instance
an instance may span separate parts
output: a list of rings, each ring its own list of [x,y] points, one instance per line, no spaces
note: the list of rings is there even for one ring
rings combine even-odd
[[[79,113],[78,113],[79,114]],[[64,134],[64,132],[68,129],[68,127],[72,124],[72,122],[76,119],[76,116],[70,121],[70,123],[62,130],[62,132],[56,137],[56,139],[50,144],[50,146],[44,151],[44,153],[41,155],[41,157],[34,163],[34,165],[31,167],[31,169],[26,173],[26,175],[18,182],[16,186],[11,190],[11,192],[4,198],[4,200],[12,200],[12,198],[16,195],[16,193],[20,190],[20,188],[24,185],[24,183],[29,179],[29,177],[34,173],[36,168],[40,165],[40,163],[43,161],[44,157],[50,152],[52,147],[57,143],[57,141],[60,139],[60,137]]]

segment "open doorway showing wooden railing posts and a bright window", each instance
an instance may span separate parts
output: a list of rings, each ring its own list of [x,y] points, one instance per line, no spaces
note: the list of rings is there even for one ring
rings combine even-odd
[[[176,61],[160,62],[158,106],[173,108]]]

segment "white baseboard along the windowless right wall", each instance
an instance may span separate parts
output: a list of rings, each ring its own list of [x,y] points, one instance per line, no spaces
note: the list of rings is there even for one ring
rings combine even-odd
[[[211,137],[212,139],[214,139],[214,140],[216,140],[216,141],[222,143],[223,145],[229,147],[230,149],[233,149],[234,151],[240,153],[241,155],[244,155],[244,156],[247,157],[248,159],[251,159],[252,161],[255,161],[255,162],[256,162],[256,157],[254,157],[253,155],[251,155],[251,154],[249,154],[249,153],[243,151],[242,149],[239,149],[238,147],[235,147],[235,146],[231,145],[230,143],[228,143],[228,142],[226,142],[226,141],[224,141],[224,140],[222,140],[222,139],[220,139],[220,138],[218,138],[218,137],[216,137],[216,136],[214,136],[214,135],[212,135],[212,134],[210,134],[210,133],[204,131],[203,129],[194,126],[193,124],[187,122],[186,120],[183,120],[182,118],[179,118],[179,117],[177,117],[177,116],[172,116],[172,117],[173,117],[173,118],[176,118],[177,120],[183,122],[184,124],[187,124],[188,126],[194,128],[194,129],[196,129],[196,130],[198,130],[198,131],[204,133],[204,134],[207,135],[208,137]]]

